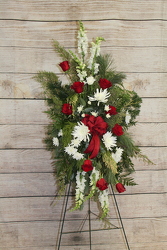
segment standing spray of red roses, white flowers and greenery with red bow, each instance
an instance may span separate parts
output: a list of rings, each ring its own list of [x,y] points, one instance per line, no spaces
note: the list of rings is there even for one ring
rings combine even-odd
[[[136,124],[142,100],[124,88],[125,75],[112,68],[110,56],[100,54],[102,37],[89,45],[79,22],[77,38],[78,55],[53,42],[63,59],[59,66],[67,82],[46,71],[39,72],[35,79],[42,83],[49,106],[46,112],[52,122],[45,143],[52,152],[59,191],[74,183],[73,210],[94,197],[104,218],[109,212],[109,185],[119,193],[126,185],[136,185],[129,176],[134,172],[132,158],[151,163],[128,133],[128,128]]]

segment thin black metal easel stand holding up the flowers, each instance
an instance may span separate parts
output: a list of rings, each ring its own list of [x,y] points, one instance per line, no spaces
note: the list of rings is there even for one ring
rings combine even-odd
[[[60,219],[60,227],[59,227],[59,233],[58,233],[58,238],[57,238],[56,250],[64,250],[64,249],[61,248],[61,241],[62,241],[62,235],[63,234],[73,234],[73,233],[88,232],[89,233],[89,250],[92,250],[92,232],[93,231],[113,230],[113,229],[122,230],[124,240],[125,240],[126,249],[130,250],[130,246],[129,246],[128,239],[127,239],[127,236],[126,236],[125,228],[124,228],[123,221],[122,221],[122,218],[121,218],[121,214],[120,214],[120,211],[119,211],[118,203],[117,203],[116,196],[115,196],[115,193],[114,193],[114,190],[113,190],[112,186],[111,186],[111,191],[112,191],[111,195],[113,196],[113,200],[114,200],[114,203],[115,203],[117,216],[118,216],[118,219],[120,221],[120,227],[117,227],[117,226],[111,224],[112,228],[92,229],[91,215],[94,215],[97,218],[98,218],[98,215],[96,215],[95,213],[93,213],[91,211],[91,204],[90,204],[90,199],[89,199],[88,200],[88,212],[87,212],[85,218],[82,220],[79,229],[77,231],[63,232],[65,217],[66,217],[66,212],[67,212],[67,206],[68,206],[68,201],[69,201],[69,197],[71,196],[70,195],[70,190],[71,190],[71,184],[68,184],[67,189],[66,189],[66,194],[64,196],[64,204],[63,204],[62,215],[61,215],[61,219]],[[87,220],[88,220],[88,223],[89,223],[89,229],[88,230],[82,230],[83,226],[84,226],[84,224],[85,224],[85,222]]]

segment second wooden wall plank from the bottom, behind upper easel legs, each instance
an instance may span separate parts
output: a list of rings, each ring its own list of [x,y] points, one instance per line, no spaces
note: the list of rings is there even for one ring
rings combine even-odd
[[[118,194],[116,196],[121,216],[123,219],[134,219],[134,218],[166,218],[166,198],[167,193],[141,193],[141,194]],[[48,221],[54,220],[59,221],[63,200],[58,199],[51,206],[51,203],[54,202],[54,196],[52,197],[13,197],[13,198],[1,198],[0,211],[1,217],[0,221],[2,222],[28,222],[28,221]],[[71,205],[74,203],[72,198],[69,198],[68,210],[71,208]],[[97,204],[91,202],[91,210],[95,214],[98,213]],[[67,211],[66,220],[68,221],[77,221],[85,217],[88,211],[88,204],[85,203],[85,206],[82,211]],[[109,218],[117,218],[115,204],[110,200],[110,212]],[[95,219],[95,217],[92,217]],[[98,222],[96,222],[98,223]],[[93,224],[96,224],[93,223]],[[75,223],[74,223],[75,224]],[[78,228],[78,227],[76,227]]]

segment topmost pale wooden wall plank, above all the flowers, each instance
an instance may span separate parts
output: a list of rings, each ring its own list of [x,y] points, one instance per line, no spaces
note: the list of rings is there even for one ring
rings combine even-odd
[[[61,2],[1,1],[0,10],[3,19],[66,21],[66,20],[99,20],[99,19],[161,19],[165,9],[161,8],[162,0],[62,0]],[[61,9],[61,11],[60,11]],[[165,18],[165,17],[164,17]]]

